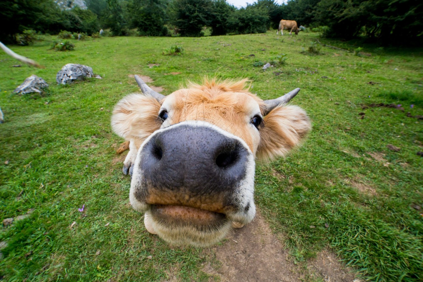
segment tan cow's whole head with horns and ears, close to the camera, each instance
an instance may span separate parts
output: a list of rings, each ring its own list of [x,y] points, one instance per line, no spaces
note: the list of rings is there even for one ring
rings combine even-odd
[[[148,232],[177,245],[209,246],[255,216],[255,159],[284,156],[310,131],[304,110],[286,106],[299,88],[263,101],[247,79],[205,79],[168,96],[135,76],[143,94],[113,111],[129,141],[129,199]]]

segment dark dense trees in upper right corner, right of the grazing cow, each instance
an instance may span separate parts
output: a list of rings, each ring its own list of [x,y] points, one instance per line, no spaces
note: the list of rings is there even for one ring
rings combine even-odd
[[[321,0],[315,20],[327,36],[365,36],[383,44],[421,43],[423,2],[418,0]],[[401,40],[404,38],[404,41]]]

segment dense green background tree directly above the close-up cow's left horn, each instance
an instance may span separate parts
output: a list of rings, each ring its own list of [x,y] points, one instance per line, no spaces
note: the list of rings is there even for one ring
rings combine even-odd
[[[142,36],[168,35],[166,6],[165,0],[132,0],[128,5],[132,25]]]

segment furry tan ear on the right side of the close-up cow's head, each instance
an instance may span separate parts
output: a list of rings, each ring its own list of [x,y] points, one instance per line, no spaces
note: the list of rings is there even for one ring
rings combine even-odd
[[[279,106],[264,117],[260,129],[257,159],[267,161],[285,156],[311,129],[307,113],[297,106]]]

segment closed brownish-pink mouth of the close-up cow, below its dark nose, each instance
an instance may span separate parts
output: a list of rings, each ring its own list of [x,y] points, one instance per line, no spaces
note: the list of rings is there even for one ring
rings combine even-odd
[[[151,205],[151,215],[162,224],[218,226],[227,221],[226,215],[184,205]]]

